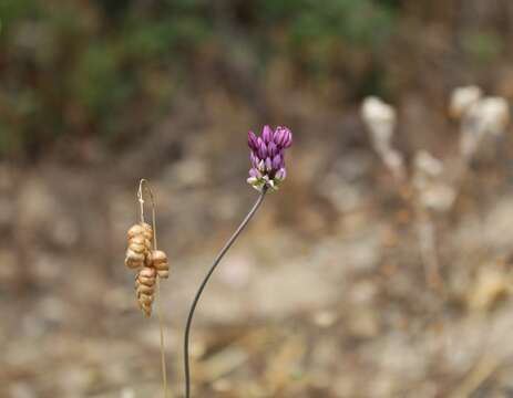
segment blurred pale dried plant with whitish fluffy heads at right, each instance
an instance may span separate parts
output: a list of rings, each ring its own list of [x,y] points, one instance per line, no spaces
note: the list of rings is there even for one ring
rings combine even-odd
[[[411,171],[404,165],[404,156],[393,148],[397,111],[378,97],[365,98],[361,116],[370,133],[373,149],[398,181],[399,189],[415,214],[419,250],[424,264],[425,277],[431,286],[441,286],[440,260],[437,250],[437,226],[432,213],[445,213],[453,208],[460,185],[469,170],[470,161],[480,150],[490,149],[491,143],[501,137],[510,122],[505,98],[483,96],[475,85],[453,91],[449,114],[461,122],[459,168],[448,169],[444,161],[427,150],[418,151]],[[491,138],[491,139],[486,139]]]

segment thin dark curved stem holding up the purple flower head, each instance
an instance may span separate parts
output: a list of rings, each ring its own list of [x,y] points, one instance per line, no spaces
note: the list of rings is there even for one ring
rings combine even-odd
[[[196,292],[196,296],[194,297],[193,305],[191,306],[191,310],[188,312],[187,324],[185,326],[185,336],[184,336],[185,397],[186,398],[191,398],[191,368],[189,368],[188,346],[189,346],[191,326],[193,323],[194,312],[196,310],[197,303],[199,301],[199,297],[202,296],[203,291],[205,290],[206,284],[208,283],[208,280],[211,279],[215,269],[219,264],[220,260],[226,254],[226,252],[229,250],[229,248],[232,248],[232,244],[234,244],[234,242],[237,240],[240,232],[243,232],[243,230],[246,228],[252,217],[256,213],[256,211],[260,207],[264,200],[264,197],[266,195],[266,191],[267,189],[264,188],[257,201],[253,206],[252,210],[249,210],[249,212],[247,213],[246,218],[243,220],[240,226],[238,226],[237,230],[234,232],[232,238],[229,238],[225,247],[220,250],[219,254],[217,254],[216,259],[214,260],[214,263],[211,265],[208,273],[206,274],[205,279],[199,285],[199,289]]]

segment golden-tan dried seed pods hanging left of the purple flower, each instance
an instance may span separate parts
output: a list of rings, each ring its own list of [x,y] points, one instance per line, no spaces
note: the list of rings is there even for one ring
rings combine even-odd
[[[146,316],[152,315],[156,277],[170,276],[167,255],[162,250],[152,250],[153,229],[147,223],[138,223],[127,232],[129,248],[125,265],[136,270],[135,293],[138,306]]]

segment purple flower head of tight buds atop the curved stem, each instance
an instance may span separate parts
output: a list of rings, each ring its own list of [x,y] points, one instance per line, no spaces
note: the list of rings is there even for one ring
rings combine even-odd
[[[252,150],[252,168],[247,182],[260,191],[264,187],[278,189],[287,176],[284,151],[293,145],[293,133],[287,127],[278,126],[273,132],[269,126],[264,126],[260,137],[249,132],[247,142]]]

